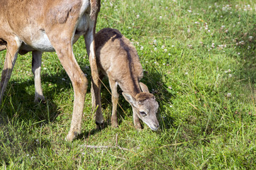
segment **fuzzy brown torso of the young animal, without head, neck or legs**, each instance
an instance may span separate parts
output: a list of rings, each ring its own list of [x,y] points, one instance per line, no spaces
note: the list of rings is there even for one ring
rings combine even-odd
[[[133,44],[118,30],[104,28],[96,33],[96,61],[101,70],[117,82],[138,81],[143,68]]]

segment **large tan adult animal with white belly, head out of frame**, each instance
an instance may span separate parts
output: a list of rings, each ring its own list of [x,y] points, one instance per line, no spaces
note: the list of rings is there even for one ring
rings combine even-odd
[[[75,60],[72,45],[84,35],[87,54],[90,54],[92,82],[97,83],[94,35],[100,0],[0,0],[0,4],[0,50],[7,50],[1,74],[0,101],[18,53],[27,52],[33,55],[35,101],[44,100],[40,85],[41,57],[43,52],[55,51],[74,88],[72,122],[66,137],[67,141],[72,141],[81,132],[88,84]]]

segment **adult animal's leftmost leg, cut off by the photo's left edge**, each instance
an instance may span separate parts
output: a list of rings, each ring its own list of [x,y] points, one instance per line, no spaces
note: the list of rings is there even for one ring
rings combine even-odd
[[[8,84],[9,79],[11,78],[11,72],[13,71],[14,64],[18,56],[18,50],[21,47],[21,42],[17,38],[7,42],[7,51],[6,58],[4,61],[4,69],[1,74],[1,83],[0,83],[0,102],[3,99],[4,91]]]

